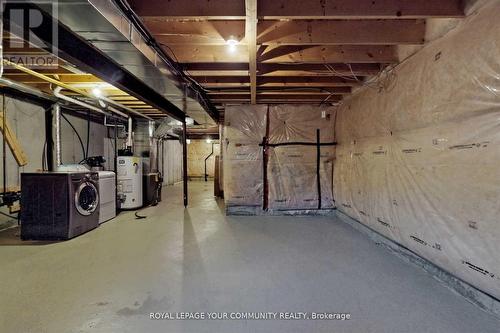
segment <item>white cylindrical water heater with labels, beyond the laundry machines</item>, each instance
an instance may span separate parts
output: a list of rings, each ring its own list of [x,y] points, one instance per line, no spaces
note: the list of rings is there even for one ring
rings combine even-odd
[[[142,206],[142,158],[136,156],[118,156],[118,196],[122,209],[134,209]]]

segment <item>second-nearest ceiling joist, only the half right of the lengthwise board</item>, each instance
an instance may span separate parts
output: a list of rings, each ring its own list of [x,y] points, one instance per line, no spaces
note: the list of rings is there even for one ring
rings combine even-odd
[[[263,45],[423,44],[425,20],[259,21]]]

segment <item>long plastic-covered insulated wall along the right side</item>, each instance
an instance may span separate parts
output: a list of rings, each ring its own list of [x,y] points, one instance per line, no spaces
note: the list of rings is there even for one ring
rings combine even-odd
[[[337,207],[500,299],[500,2],[346,100]]]

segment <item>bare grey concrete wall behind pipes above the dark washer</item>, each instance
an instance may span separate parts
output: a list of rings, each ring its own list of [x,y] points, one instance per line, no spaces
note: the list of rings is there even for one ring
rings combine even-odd
[[[0,103],[2,103],[0,96]],[[20,186],[22,172],[33,172],[42,170],[42,155],[45,145],[45,110],[38,105],[27,103],[21,100],[6,97],[6,120],[12,132],[15,134],[19,144],[27,156],[28,164],[18,166],[13,157],[9,146],[6,147],[6,174],[7,188],[15,190]],[[73,124],[86,149],[87,141],[87,121],[85,119],[73,117],[65,114],[66,118]],[[63,163],[78,163],[83,159],[83,152],[76,134],[69,124],[61,120],[62,134],[62,158]],[[103,155],[103,141],[105,136],[105,128],[101,124],[90,123],[90,141],[89,154],[90,156]],[[3,135],[0,135],[0,145],[3,145]],[[0,146],[1,147],[1,146]],[[0,163],[0,175],[3,175],[3,164]],[[3,191],[3,180],[0,183]],[[1,208],[2,212],[8,213],[6,207]],[[14,214],[15,215],[15,214]],[[12,219],[5,216],[0,216],[0,229],[5,225],[9,225]]]

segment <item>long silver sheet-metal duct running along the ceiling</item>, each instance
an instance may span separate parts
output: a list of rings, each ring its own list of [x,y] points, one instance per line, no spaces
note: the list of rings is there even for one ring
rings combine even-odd
[[[184,109],[184,82],[179,81],[164,57],[148,45],[112,0],[59,0],[58,13],[61,23]],[[199,124],[215,124],[198,100],[188,97],[186,102],[189,117]]]

